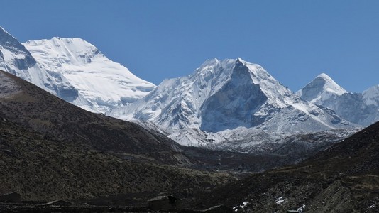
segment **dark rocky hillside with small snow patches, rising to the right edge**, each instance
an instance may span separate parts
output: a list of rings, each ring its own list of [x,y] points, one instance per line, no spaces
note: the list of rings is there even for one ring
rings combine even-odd
[[[245,202],[245,204],[243,204]],[[199,195],[195,207],[226,204],[240,212],[379,211],[379,123],[309,160]]]

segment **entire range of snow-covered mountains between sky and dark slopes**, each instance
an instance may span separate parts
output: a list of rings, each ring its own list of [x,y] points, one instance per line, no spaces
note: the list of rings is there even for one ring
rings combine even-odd
[[[376,87],[350,93],[322,74],[294,94],[241,58],[207,60],[192,75],[155,87],[80,38],[18,43],[1,28],[0,48],[7,72],[185,146],[254,152],[269,141],[284,143],[283,135],[326,131],[343,138],[379,119]]]

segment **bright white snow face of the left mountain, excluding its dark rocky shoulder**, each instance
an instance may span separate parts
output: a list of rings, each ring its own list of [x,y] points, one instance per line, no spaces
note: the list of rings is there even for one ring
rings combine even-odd
[[[155,88],[81,38],[29,40],[23,45],[43,70],[77,90],[77,97],[67,101],[89,111],[126,106]]]

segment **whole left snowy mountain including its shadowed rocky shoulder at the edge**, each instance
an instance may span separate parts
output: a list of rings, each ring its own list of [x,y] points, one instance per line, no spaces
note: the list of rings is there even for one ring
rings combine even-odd
[[[4,28],[0,28],[0,70],[102,113],[131,104],[155,88],[81,38],[54,37],[22,44]]]

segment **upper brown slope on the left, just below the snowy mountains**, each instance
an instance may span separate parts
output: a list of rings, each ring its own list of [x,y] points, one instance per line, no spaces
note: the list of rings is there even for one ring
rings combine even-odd
[[[189,163],[180,148],[158,133],[101,114],[93,114],[54,97],[6,72],[0,73],[1,116],[26,129],[66,143],[101,151],[133,153],[164,163]],[[174,158],[174,155],[178,155]]]

